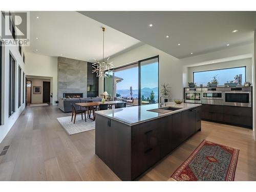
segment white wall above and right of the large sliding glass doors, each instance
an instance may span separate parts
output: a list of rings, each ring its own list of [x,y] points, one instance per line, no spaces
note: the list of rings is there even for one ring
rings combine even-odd
[[[111,57],[115,67],[159,55],[159,82],[169,83],[172,98],[182,98],[182,66],[178,59],[152,46],[143,45],[131,51]],[[99,78],[99,95],[103,93],[103,78]],[[160,85],[159,85],[160,86]]]

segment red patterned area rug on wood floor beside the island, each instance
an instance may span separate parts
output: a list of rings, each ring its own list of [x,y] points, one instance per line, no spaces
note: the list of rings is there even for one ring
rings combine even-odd
[[[239,150],[203,140],[174,172],[177,181],[233,181]]]

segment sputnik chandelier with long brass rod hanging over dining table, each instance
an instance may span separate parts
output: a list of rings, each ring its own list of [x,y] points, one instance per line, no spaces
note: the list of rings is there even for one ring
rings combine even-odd
[[[104,61],[104,32],[105,28],[102,27],[103,31],[103,56],[102,61],[98,61],[94,59],[96,62],[92,64],[94,70],[92,73],[96,73],[97,77],[110,77],[110,73],[112,72],[112,69],[114,68],[114,65],[112,62],[109,62],[110,57]]]

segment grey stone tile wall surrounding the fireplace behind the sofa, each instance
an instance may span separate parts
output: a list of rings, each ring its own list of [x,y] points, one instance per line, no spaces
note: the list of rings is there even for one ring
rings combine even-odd
[[[83,93],[87,97],[87,62],[58,57],[58,99],[63,93]]]

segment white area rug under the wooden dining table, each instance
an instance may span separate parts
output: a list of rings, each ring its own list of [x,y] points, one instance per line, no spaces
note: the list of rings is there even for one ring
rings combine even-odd
[[[62,127],[67,131],[69,135],[74,135],[77,133],[82,133],[82,132],[87,132],[95,129],[95,121],[92,119],[86,119],[83,120],[81,115],[76,116],[76,122],[74,124],[74,118],[73,121],[71,122],[71,116],[68,117],[59,117],[57,118],[59,123],[62,125]]]

